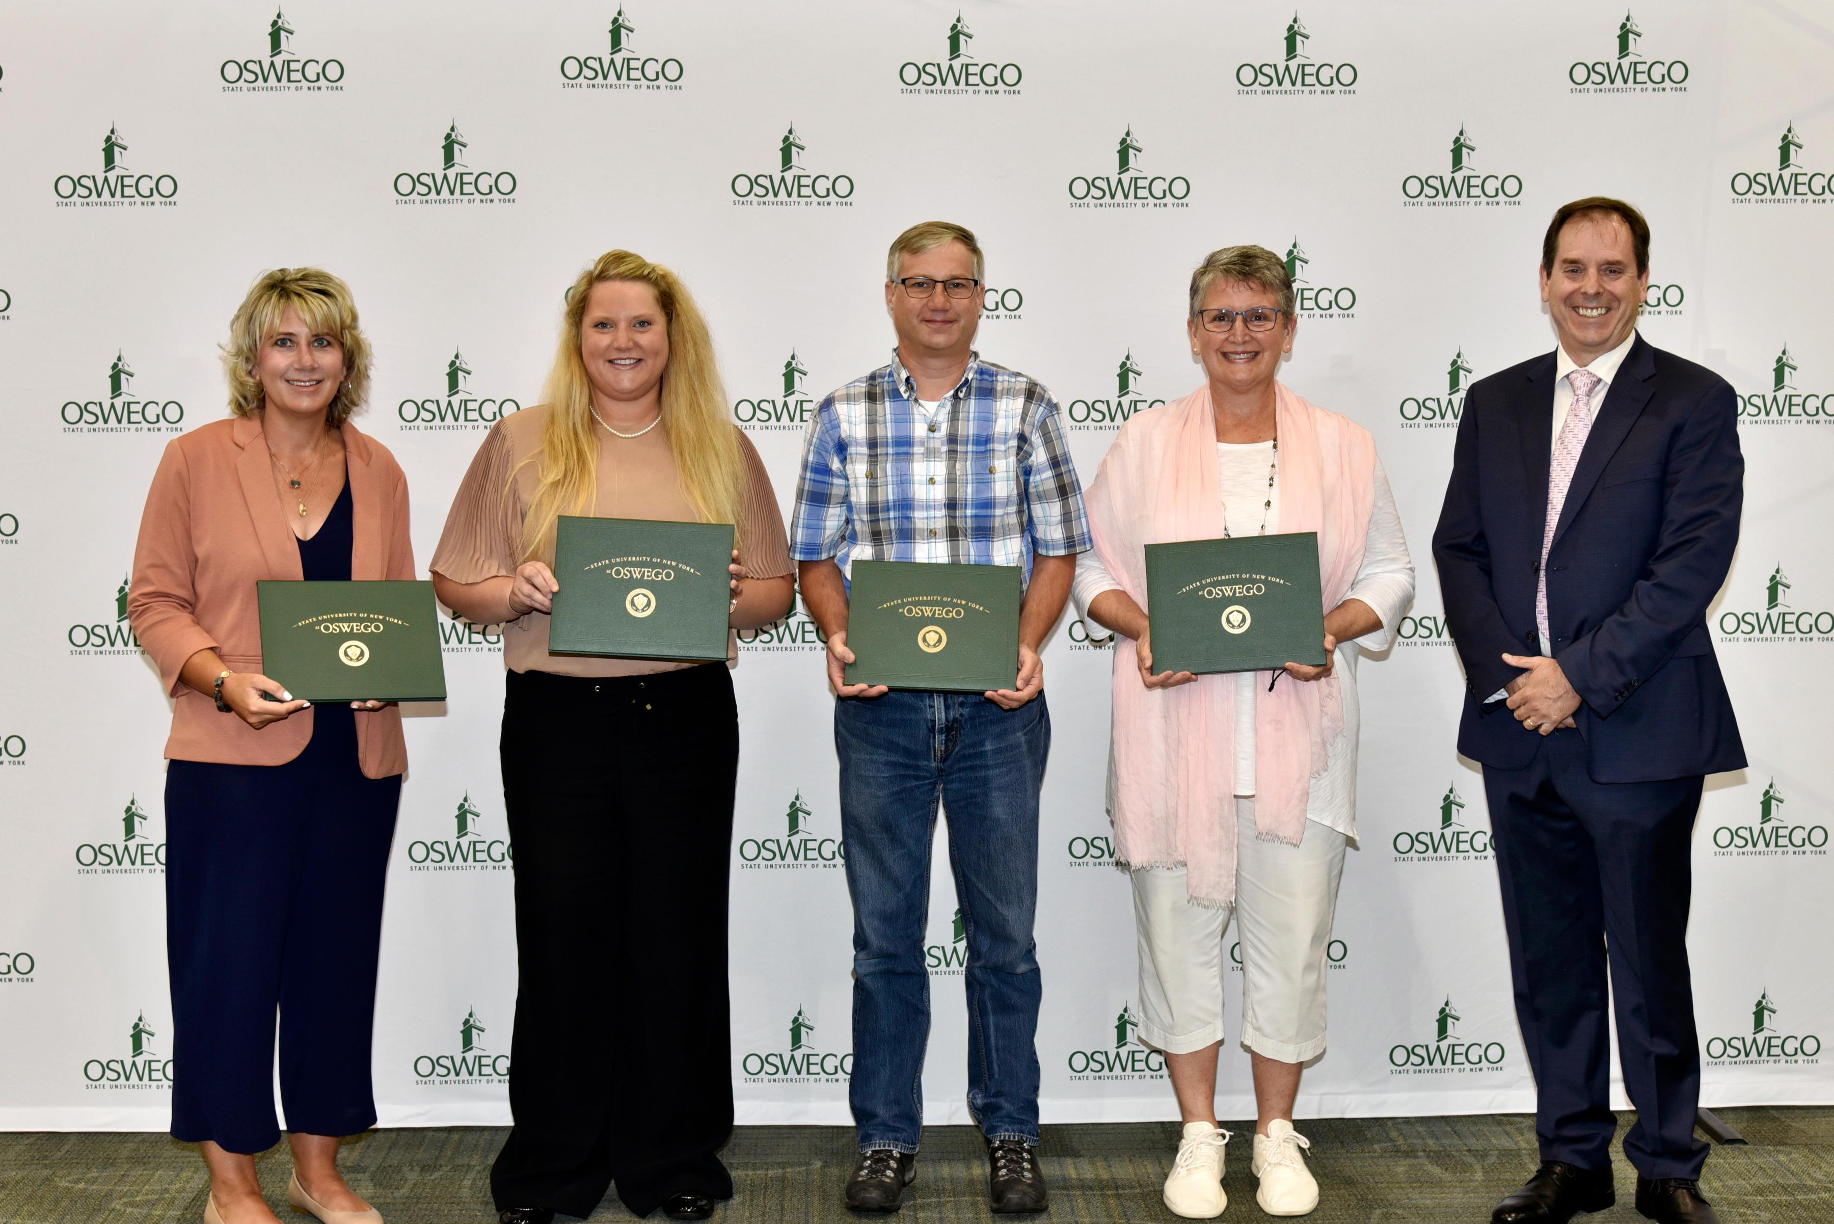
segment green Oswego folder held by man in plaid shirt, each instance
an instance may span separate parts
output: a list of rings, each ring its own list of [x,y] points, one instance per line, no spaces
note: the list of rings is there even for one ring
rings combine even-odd
[[[849,684],[924,692],[1012,688],[1020,675],[1020,567],[855,562]]]

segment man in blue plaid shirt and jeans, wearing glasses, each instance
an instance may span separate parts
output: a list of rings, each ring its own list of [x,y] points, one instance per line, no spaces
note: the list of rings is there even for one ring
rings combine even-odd
[[[886,308],[889,365],[822,400],[803,446],[790,556],[827,635],[840,824],[853,897],[853,1081],[860,1163],[847,1206],[895,1211],[915,1176],[930,1039],[924,918],[937,802],[967,932],[968,1108],[989,1143],[994,1211],[1044,1211],[1038,1167],[1038,787],[1051,749],[1044,644],[1089,547],[1056,400],[981,362],[983,261],[974,235],[926,222],[899,235]],[[847,684],[855,560],[1020,565],[1011,690],[888,692]]]

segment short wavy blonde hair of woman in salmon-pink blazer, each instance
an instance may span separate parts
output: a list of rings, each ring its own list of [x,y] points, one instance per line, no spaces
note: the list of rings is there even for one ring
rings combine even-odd
[[[341,426],[363,411],[369,398],[369,339],[356,321],[350,286],[323,268],[275,268],[257,277],[248,297],[229,319],[229,343],[222,345],[224,374],[229,378],[229,411],[255,417],[268,404],[255,362],[260,347],[277,330],[288,308],[297,310],[314,336],[336,336],[345,351],[343,382],[325,409],[325,424]]]

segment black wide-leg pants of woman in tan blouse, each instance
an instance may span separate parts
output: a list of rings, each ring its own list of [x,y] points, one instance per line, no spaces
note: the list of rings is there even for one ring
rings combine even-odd
[[[510,672],[517,996],[497,1209],[732,1196],[726,892],[739,716],[721,664]]]

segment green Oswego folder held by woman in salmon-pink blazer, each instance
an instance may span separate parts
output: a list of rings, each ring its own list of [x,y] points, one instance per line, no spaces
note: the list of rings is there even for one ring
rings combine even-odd
[[[257,582],[260,670],[306,701],[446,701],[431,582]]]

